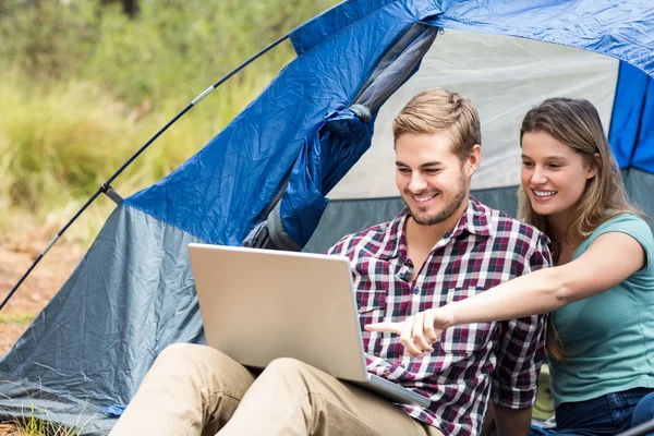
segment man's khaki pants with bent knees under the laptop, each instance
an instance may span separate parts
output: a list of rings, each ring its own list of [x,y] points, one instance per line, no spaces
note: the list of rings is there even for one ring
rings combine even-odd
[[[204,346],[166,348],[116,424],[119,435],[443,436],[400,408],[294,359],[257,376]]]

